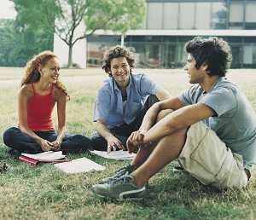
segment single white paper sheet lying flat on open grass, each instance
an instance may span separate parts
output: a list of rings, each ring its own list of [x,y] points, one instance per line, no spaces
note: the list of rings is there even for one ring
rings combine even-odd
[[[106,169],[105,166],[96,164],[96,162],[87,158],[73,159],[69,162],[55,164],[55,167],[66,173],[103,171]]]

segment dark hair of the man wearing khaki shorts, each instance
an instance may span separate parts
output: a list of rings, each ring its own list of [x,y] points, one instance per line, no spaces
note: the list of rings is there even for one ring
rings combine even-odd
[[[199,69],[207,64],[207,74],[224,77],[230,67],[232,55],[229,44],[222,38],[196,37],[185,45],[187,53],[195,58],[195,67]]]

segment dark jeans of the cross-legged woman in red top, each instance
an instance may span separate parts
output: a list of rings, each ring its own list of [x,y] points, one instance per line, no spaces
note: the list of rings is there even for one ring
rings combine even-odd
[[[49,142],[54,142],[57,138],[55,130],[34,131],[38,136]],[[9,128],[3,133],[3,142],[9,148],[20,151],[20,153],[42,153],[40,145],[31,137],[23,133],[19,128]],[[91,141],[86,136],[66,135],[61,143],[61,149],[64,152],[79,153],[91,148]]]

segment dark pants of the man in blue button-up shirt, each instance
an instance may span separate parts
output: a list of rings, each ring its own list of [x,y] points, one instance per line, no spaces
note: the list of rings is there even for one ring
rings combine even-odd
[[[135,130],[138,130],[143,123],[143,118],[145,114],[147,113],[148,109],[154,105],[155,102],[159,101],[158,98],[154,95],[148,96],[148,99],[146,100],[142,110],[140,110],[139,113],[137,113],[136,119],[134,119],[131,124],[122,124],[118,127],[113,127],[110,129],[113,136],[116,136],[120,142],[123,143],[123,145],[126,148],[126,141],[129,136],[131,136],[131,133]],[[101,151],[107,151],[108,149],[108,142],[105,140],[104,137],[100,136],[98,133],[96,133],[94,136],[91,137],[92,142],[92,148],[96,150]]]

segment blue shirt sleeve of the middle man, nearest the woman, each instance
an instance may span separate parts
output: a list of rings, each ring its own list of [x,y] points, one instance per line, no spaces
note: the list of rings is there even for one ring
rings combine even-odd
[[[93,121],[103,119],[108,121],[108,114],[110,111],[110,94],[106,90],[99,90],[94,104]]]

